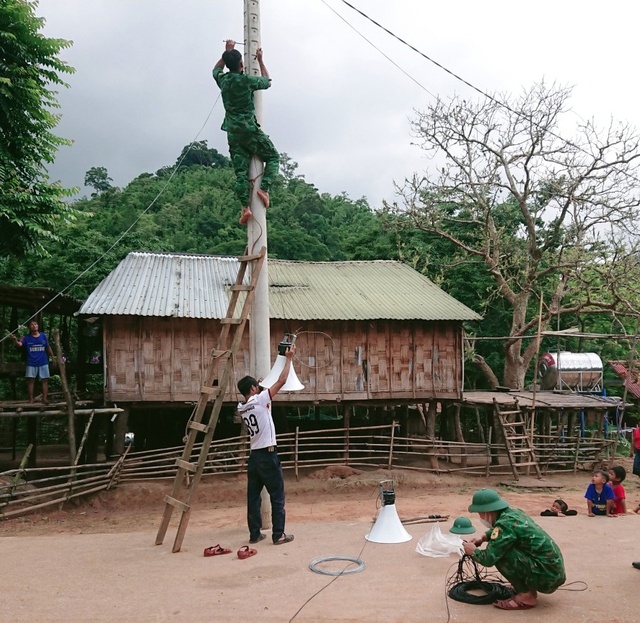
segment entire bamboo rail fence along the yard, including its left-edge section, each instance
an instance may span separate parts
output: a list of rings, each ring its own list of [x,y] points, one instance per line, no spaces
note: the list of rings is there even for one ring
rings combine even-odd
[[[489,438],[491,435],[489,435]],[[537,457],[543,473],[591,470],[614,457],[616,442],[600,438],[536,436]],[[196,444],[192,461],[197,462]],[[62,505],[72,498],[108,490],[119,482],[173,479],[183,447],[142,452],[127,451],[115,462],[71,467],[20,468],[0,473],[0,520]],[[400,437],[394,425],[300,431],[278,436],[278,454],[284,469],[322,469],[329,465],[360,468],[407,469],[425,472],[511,474],[504,446]],[[214,441],[203,476],[239,474],[249,456],[246,437]]]

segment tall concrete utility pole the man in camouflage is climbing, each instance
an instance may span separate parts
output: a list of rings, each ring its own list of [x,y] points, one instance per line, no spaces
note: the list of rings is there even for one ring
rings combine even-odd
[[[260,66],[256,60],[256,50],[260,44],[260,2],[245,0],[244,2],[244,67],[248,74],[260,75]],[[254,91],[253,102],[256,119],[262,124],[262,92]],[[249,205],[253,218],[247,223],[247,244],[249,253],[257,253],[267,246],[267,214],[262,201],[256,195],[262,181],[264,164],[254,156],[249,166],[249,178],[256,180],[251,187]],[[271,369],[270,351],[271,333],[269,326],[269,266],[264,259],[258,282],[256,283],[249,320],[249,353],[251,357],[251,376],[259,379],[266,376]],[[260,515],[262,527],[271,527],[271,500],[265,489],[261,493],[262,505]]]

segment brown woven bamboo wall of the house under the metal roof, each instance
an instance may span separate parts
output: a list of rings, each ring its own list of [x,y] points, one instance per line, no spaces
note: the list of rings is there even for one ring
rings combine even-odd
[[[104,318],[106,398],[113,402],[198,399],[217,320]],[[271,352],[298,333],[294,367],[305,385],[279,401],[420,402],[462,396],[462,327],[454,322],[271,322]],[[248,329],[234,358],[235,380],[250,372]],[[265,371],[266,374],[267,371]],[[237,402],[234,387],[227,400]]]

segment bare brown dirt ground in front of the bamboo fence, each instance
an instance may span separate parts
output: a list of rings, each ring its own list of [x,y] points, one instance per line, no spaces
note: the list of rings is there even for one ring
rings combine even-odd
[[[440,524],[443,531],[461,515],[480,528],[467,507],[481,487],[497,488],[533,516],[562,497],[579,516],[537,521],[560,545],[567,583],[584,582],[586,589],[567,586],[522,612],[447,600],[445,581],[457,557],[427,558],[415,551],[432,524],[407,525],[413,538],[406,543],[364,538],[377,512],[378,482],[389,477],[400,517],[449,515]],[[640,515],[587,517],[582,496],[589,478],[585,472],[553,475],[516,487],[505,478],[402,470],[345,479],[305,474],[299,481],[287,474],[287,532],[295,541],[274,547],[266,539],[255,546],[258,555],[246,560],[235,553],[248,543],[244,476],[200,485],[177,554],[171,553],[177,512],[163,545],[154,545],[170,483],[121,485],[63,510],[0,524],[0,623],[636,620],[640,571],[631,562],[640,560]],[[635,507],[638,480],[630,476],[625,485],[629,506]],[[205,547],[218,543],[233,553],[203,557]],[[360,558],[365,569],[337,578],[313,573],[309,564],[323,556]],[[344,566],[332,562],[322,568]]]

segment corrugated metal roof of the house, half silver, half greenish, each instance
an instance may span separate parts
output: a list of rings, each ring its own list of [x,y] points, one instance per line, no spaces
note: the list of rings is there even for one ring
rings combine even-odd
[[[272,318],[478,320],[474,311],[401,262],[269,260]],[[235,257],[132,252],[91,293],[81,314],[222,318]]]

